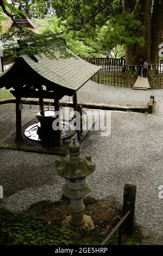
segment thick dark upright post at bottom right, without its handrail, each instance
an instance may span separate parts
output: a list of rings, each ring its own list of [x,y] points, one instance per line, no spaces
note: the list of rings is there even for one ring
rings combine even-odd
[[[132,235],[134,230],[134,212],[135,212],[136,186],[131,184],[124,185],[122,216],[129,210],[130,214],[123,223],[123,233]]]

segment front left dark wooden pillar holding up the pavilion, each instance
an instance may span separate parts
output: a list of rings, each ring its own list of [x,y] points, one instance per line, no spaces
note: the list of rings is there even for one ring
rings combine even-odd
[[[21,97],[16,96],[16,141],[22,139],[22,104]]]

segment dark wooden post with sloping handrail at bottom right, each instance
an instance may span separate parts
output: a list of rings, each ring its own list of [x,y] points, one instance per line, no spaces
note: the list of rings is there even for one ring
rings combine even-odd
[[[122,234],[133,235],[134,231],[134,213],[135,213],[135,199],[136,199],[136,186],[126,184],[124,185],[123,193],[123,217],[117,225],[111,230],[108,236],[104,239],[101,245],[106,245],[110,238],[118,230],[118,245],[122,244]]]

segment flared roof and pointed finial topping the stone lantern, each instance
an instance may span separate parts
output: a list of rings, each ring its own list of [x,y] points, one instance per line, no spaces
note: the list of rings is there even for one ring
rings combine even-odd
[[[80,155],[80,145],[75,138],[69,145],[70,154],[62,161],[55,161],[58,175],[68,179],[84,178],[90,175],[96,168],[91,161],[91,156]]]

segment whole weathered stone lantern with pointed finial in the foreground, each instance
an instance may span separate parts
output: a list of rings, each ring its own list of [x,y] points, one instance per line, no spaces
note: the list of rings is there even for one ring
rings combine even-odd
[[[70,198],[71,216],[62,221],[62,226],[83,233],[90,232],[95,226],[91,216],[84,215],[83,197],[90,192],[85,177],[90,175],[96,166],[92,163],[91,156],[80,155],[80,145],[74,138],[68,148],[70,154],[64,160],[55,162],[58,175],[65,178],[65,184],[62,185],[64,195]]]

